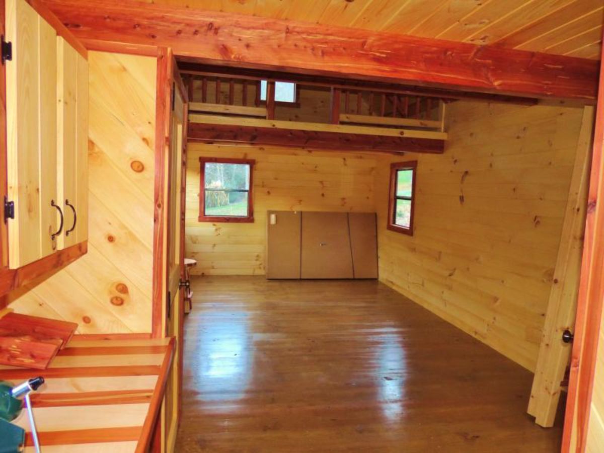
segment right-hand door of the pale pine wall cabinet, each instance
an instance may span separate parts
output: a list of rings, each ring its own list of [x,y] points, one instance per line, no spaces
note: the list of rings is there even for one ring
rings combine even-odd
[[[88,62],[57,38],[57,203],[59,249],[88,239]]]

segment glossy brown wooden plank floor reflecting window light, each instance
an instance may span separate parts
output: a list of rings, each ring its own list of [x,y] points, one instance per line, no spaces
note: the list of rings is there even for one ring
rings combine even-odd
[[[381,283],[192,284],[178,453],[559,451],[532,374]]]

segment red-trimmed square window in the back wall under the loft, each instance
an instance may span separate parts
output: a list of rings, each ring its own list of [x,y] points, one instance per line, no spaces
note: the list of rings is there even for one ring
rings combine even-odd
[[[199,222],[254,222],[250,159],[200,158]]]

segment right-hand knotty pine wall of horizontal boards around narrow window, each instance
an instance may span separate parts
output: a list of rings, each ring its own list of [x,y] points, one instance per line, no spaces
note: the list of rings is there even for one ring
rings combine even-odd
[[[380,280],[534,370],[582,109],[456,102],[444,155],[419,161],[414,236],[386,229],[390,162],[376,169]]]

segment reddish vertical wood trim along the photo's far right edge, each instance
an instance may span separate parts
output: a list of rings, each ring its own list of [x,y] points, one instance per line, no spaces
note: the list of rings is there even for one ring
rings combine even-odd
[[[604,58],[600,62],[600,93],[604,93]],[[597,101],[594,150],[591,158],[583,258],[577,300],[573,353],[570,362],[563,453],[583,453],[587,443],[591,397],[602,325],[604,299],[604,95]],[[600,199],[600,203],[598,202]],[[604,354],[604,351],[600,351]],[[571,452],[571,435],[576,430],[576,448]]]

